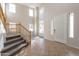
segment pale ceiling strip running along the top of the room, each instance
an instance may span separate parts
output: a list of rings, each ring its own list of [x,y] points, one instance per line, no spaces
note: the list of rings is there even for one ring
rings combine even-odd
[[[20,3],[25,6],[29,6],[32,8],[39,6],[75,6],[79,7],[79,3]]]

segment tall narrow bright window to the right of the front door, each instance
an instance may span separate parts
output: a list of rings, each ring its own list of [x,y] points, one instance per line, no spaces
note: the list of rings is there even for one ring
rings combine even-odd
[[[74,13],[70,13],[69,37],[74,38]]]

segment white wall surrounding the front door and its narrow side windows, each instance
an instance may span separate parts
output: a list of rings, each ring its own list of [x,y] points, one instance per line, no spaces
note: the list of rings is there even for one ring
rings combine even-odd
[[[44,13],[43,13],[43,17],[41,19],[43,19],[45,21],[45,39],[51,40],[51,41],[59,41],[61,43],[65,43],[69,46],[75,47],[75,48],[79,48],[79,4],[43,4],[42,6],[40,6],[40,10],[42,8],[44,8]],[[67,23],[63,23],[64,26],[68,26],[68,18],[69,18],[69,13],[70,12],[74,12],[75,13],[75,18],[74,18],[74,34],[75,34],[75,38],[70,39],[68,37],[68,27],[65,27],[65,32],[63,31],[64,35],[60,32],[59,34],[64,36],[64,38],[67,39],[54,39],[54,35],[51,35],[51,20],[52,17],[57,17],[62,15],[63,18],[58,17],[57,19],[63,19],[64,22]],[[65,15],[67,14],[67,15]],[[65,17],[66,16],[66,17]],[[59,24],[60,25],[60,24]],[[63,25],[60,25],[61,27]]]

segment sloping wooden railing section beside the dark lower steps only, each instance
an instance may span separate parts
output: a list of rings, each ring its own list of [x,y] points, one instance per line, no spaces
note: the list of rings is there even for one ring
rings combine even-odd
[[[17,25],[17,31],[29,43],[31,43],[31,31],[25,28],[22,24]]]

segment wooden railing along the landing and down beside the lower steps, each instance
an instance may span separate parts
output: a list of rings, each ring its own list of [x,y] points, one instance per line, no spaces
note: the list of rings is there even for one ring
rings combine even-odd
[[[6,24],[7,32],[14,32],[20,34],[27,42],[31,43],[31,31],[25,28],[21,23],[20,24]],[[13,26],[13,28],[10,28]],[[15,26],[15,27],[14,27]]]

